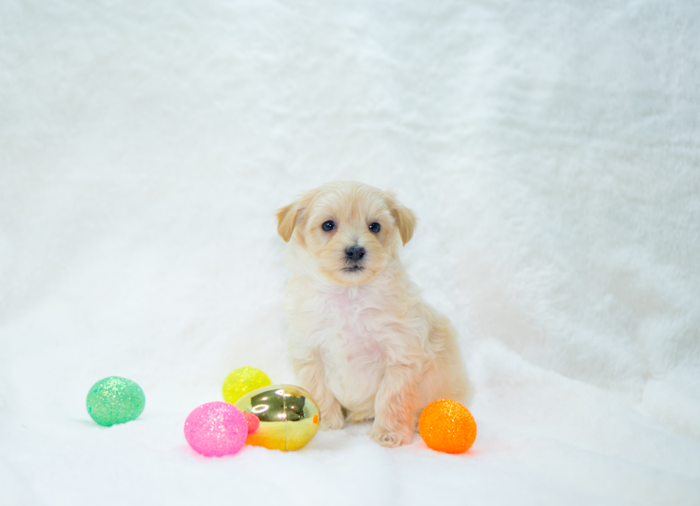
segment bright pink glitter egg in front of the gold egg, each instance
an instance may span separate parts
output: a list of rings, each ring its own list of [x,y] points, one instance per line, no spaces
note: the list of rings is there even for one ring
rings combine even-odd
[[[207,402],[196,407],[185,420],[185,439],[205,457],[233,455],[248,437],[248,422],[228,402]]]

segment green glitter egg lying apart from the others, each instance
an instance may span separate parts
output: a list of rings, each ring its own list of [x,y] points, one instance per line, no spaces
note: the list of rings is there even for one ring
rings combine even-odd
[[[92,420],[109,427],[136,420],[144,412],[146,396],[133,381],[110,376],[92,385],[86,405]]]

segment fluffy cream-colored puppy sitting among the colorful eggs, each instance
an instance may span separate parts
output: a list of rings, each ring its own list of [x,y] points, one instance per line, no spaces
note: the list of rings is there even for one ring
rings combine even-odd
[[[306,192],[277,219],[290,244],[289,350],[321,428],[374,419],[374,440],[404,445],[429,402],[464,400],[469,384],[454,329],[399,262],[413,212],[389,193],[338,182]]]

